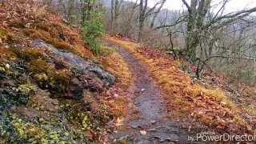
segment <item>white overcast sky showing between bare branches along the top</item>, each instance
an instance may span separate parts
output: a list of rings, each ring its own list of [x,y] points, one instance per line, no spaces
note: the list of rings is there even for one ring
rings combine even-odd
[[[135,0],[132,0],[135,1]],[[149,0],[150,5],[153,6],[154,2],[157,0]],[[223,0],[214,0],[214,3],[222,2]],[[190,3],[190,0],[186,0],[186,2]],[[256,0],[231,0],[226,5],[226,12],[231,12],[235,10],[242,10],[245,7],[251,8],[256,6]],[[167,0],[164,8],[168,8],[170,10],[181,10],[182,9],[182,0]]]

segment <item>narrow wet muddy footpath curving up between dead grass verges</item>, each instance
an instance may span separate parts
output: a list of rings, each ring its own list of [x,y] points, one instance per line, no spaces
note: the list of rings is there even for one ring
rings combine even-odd
[[[118,50],[134,75],[134,82],[127,90],[126,98],[131,99],[138,109],[138,113],[125,120],[126,128],[117,130],[111,139],[116,143],[190,143],[188,135],[196,132],[189,134],[188,127],[172,122],[168,117],[171,112],[166,112],[163,94],[150,78],[146,66],[126,48],[113,44],[110,46]]]

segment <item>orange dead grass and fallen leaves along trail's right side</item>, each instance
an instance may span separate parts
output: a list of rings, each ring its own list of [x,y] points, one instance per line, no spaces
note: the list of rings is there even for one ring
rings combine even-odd
[[[250,118],[256,116],[254,108],[248,108],[236,104],[221,88],[201,86],[178,68],[178,62],[166,58],[154,50],[143,49],[142,46],[129,42],[104,36],[110,42],[118,43],[130,50],[134,55],[149,67],[152,77],[158,82],[159,87],[166,92],[166,100],[170,102],[168,109],[176,111],[175,115],[189,118],[199,118],[207,126],[228,128],[230,131],[252,129],[253,120],[248,120],[244,114],[250,114]],[[238,125],[238,129],[232,125]]]

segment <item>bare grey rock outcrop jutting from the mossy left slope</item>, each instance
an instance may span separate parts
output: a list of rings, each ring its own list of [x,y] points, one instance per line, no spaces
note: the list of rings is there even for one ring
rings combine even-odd
[[[54,59],[59,59],[64,62],[67,67],[74,70],[74,73],[78,78],[74,78],[70,85],[80,86],[79,89],[88,88],[90,90],[101,91],[104,87],[110,86],[114,83],[114,76],[107,73],[102,69],[98,63],[91,61],[90,59],[85,60],[78,54],[74,54],[68,50],[57,49],[42,39],[35,39],[30,44],[31,47],[42,46],[48,50],[47,57],[48,61],[54,64]],[[79,80],[78,80],[79,79]],[[97,81],[95,81],[97,79]],[[74,87],[74,89],[78,89]]]

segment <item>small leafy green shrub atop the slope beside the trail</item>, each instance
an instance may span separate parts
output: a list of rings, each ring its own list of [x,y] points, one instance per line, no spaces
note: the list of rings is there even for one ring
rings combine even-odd
[[[104,34],[102,14],[97,12],[97,14],[94,15],[94,18],[85,21],[81,28],[82,40],[90,46],[90,49],[96,55],[102,50],[103,42],[99,40],[102,34]]]

